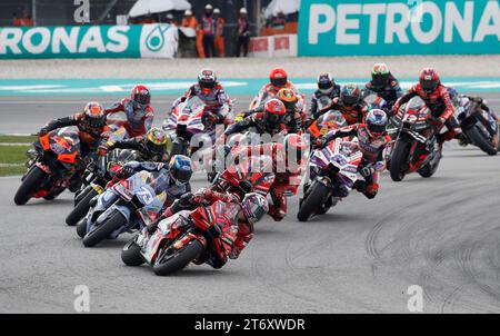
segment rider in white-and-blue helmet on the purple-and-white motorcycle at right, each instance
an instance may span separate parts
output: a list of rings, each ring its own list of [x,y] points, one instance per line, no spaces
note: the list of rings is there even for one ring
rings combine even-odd
[[[386,168],[383,149],[391,141],[386,128],[389,122],[387,113],[379,109],[371,110],[364,123],[354,123],[341,129],[332,130],[318,140],[318,147],[324,148],[337,138],[357,137],[359,148],[363,154],[358,171],[364,178],[364,182],[357,181],[354,188],[367,198],[372,199],[379,191],[379,172]]]

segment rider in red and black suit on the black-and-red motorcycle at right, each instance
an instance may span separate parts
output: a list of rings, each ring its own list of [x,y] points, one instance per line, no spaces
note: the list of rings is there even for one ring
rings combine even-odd
[[[424,68],[420,72],[419,82],[394,103],[392,113],[397,113],[399,108],[413,97],[420,97],[426,102],[432,115],[431,122],[439,129],[443,126],[448,128],[444,135],[438,135],[439,144],[442,145],[453,138],[463,140],[462,130],[454,116],[454,108],[448,89],[441,83],[441,79],[434,69]]]

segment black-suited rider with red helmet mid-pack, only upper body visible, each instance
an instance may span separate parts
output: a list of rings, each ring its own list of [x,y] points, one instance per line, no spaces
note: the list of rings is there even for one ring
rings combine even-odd
[[[287,127],[283,122],[287,108],[281,100],[271,99],[264,105],[262,112],[257,112],[246,117],[243,120],[231,125],[224,132],[227,137],[242,132],[251,127],[257,129],[257,134],[269,134],[271,136],[286,135]]]

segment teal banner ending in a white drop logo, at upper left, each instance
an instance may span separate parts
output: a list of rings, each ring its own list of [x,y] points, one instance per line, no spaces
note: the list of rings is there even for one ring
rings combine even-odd
[[[0,28],[0,59],[173,58],[170,24]]]

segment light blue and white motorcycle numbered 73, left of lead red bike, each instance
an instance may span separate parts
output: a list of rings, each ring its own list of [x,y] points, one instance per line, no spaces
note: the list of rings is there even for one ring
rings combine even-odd
[[[101,194],[86,218],[77,225],[77,234],[86,247],[133,233],[153,223],[167,200],[166,176],[139,171]]]

